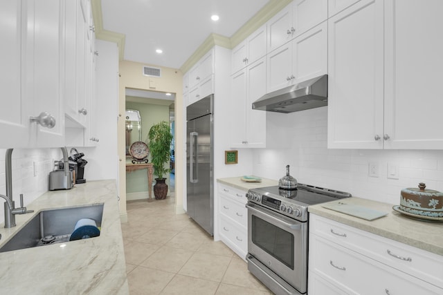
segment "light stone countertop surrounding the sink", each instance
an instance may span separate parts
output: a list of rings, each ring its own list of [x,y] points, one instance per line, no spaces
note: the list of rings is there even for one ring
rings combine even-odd
[[[104,203],[100,236],[0,253],[1,294],[129,294],[116,180],[48,191],[16,215],[16,227],[0,228],[0,246],[43,209]]]

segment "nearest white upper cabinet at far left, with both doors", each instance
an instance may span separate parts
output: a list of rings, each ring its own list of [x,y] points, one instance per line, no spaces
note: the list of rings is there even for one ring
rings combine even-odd
[[[0,83],[6,92],[1,102],[8,107],[0,111],[0,135],[6,139],[0,146],[63,146],[64,1],[3,2],[0,19],[7,23],[0,26],[0,35],[9,45],[0,57]]]

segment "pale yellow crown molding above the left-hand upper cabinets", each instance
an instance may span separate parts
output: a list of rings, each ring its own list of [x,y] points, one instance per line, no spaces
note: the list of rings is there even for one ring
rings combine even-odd
[[[102,1],[91,0],[92,17],[94,26],[96,28],[96,39],[114,42],[118,46],[118,59],[123,60],[125,56],[125,34],[119,32],[112,32],[110,30],[103,30],[102,18]]]

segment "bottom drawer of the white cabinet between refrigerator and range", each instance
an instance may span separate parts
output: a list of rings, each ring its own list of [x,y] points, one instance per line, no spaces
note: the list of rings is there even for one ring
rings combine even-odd
[[[219,225],[221,240],[238,256],[245,259],[248,252],[248,231],[224,214],[220,214]]]

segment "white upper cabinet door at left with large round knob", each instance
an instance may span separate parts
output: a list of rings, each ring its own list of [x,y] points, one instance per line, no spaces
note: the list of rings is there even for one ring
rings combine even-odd
[[[31,124],[31,141],[38,147],[64,145],[64,1],[28,1],[28,35],[26,36],[26,95],[30,116],[48,112],[55,118],[52,129]],[[28,76],[30,78],[30,76]]]

